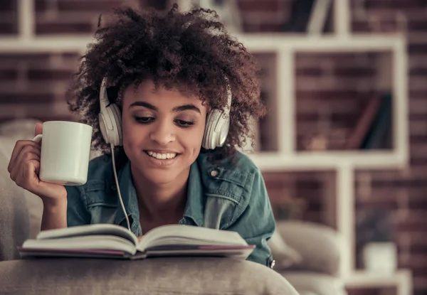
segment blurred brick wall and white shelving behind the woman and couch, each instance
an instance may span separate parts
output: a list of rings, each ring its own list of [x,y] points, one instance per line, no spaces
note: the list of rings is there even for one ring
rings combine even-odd
[[[427,294],[427,0],[176,2],[215,9],[264,70],[247,152],[275,218],[342,235],[349,294]],[[122,4],[172,1],[0,0],[0,135],[75,119],[78,57]]]

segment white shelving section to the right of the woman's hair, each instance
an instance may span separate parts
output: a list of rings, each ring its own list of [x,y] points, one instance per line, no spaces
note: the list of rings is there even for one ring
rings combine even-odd
[[[337,173],[336,218],[342,243],[342,277],[354,274],[354,170],[406,168],[408,165],[408,81],[406,39],[401,34],[352,34],[348,1],[334,1],[336,33],[330,36],[245,35],[240,40],[253,53],[275,53],[278,60],[278,152],[251,154],[263,171],[313,171]],[[343,29],[347,28],[347,29]],[[384,52],[392,56],[392,151],[296,151],[295,53]],[[283,78],[281,78],[283,77]]]

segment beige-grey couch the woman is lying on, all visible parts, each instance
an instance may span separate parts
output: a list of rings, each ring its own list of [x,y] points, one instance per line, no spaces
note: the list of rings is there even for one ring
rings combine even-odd
[[[345,295],[337,277],[339,236],[306,222],[278,222],[269,241],[274,270],[221,258],[19,259],[16,246],[37,235],[43,208],[6,167],[16,140],[31,139],[33,126],[0,125],[0,294]]]

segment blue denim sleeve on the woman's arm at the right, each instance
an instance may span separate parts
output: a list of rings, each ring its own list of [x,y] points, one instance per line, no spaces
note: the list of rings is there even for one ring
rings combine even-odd
[[[246,207],[228,230],[239,232],[248,245],[256,246],[248,260],[272,267],[273,255],[267,241],[275,231],[275,218],[259,170],[255,171],[249,196]]]

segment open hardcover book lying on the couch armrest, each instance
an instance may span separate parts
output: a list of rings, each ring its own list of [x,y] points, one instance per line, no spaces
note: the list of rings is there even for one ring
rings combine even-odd
[[[219,256],[246,259],[255,249],[238,232],[191,225],[163,225],[141,239],[125,227],[80,225],[40,232],[26,240],[21,257],[144,259],[159,256]]]

